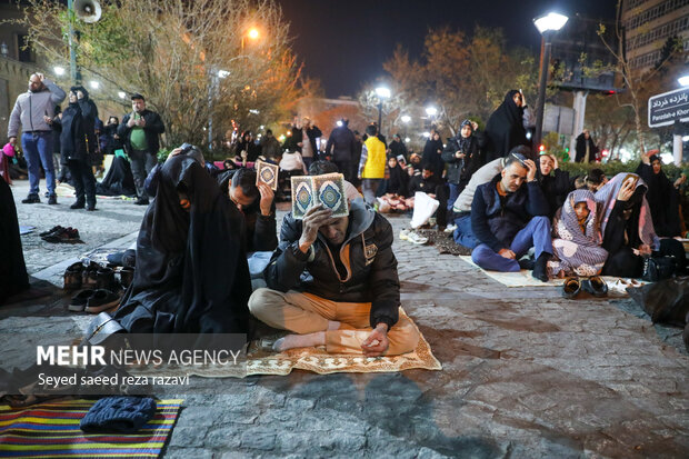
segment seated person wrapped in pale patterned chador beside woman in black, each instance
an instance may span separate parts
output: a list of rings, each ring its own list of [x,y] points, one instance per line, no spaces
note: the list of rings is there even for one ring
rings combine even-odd
[[[608,252],[601,246],[598,212],[593,193],[576,190],[565,199],[552,222],[550,277],[598,276]]]

